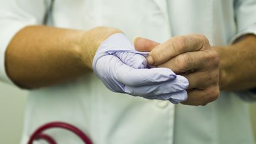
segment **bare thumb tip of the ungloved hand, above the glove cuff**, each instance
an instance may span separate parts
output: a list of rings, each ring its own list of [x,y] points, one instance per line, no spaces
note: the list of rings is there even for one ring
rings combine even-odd
[[[159,43],[142,37],[135,37],[133,39],[133,44],[135,45],[135,49],[137,51],[151,52],[151,50],[158,46]]]

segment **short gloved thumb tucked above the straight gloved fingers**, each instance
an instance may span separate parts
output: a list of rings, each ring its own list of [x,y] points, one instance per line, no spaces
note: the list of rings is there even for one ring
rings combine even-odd
[[[116,52],[115,55],[119,57],[123,63],[131,66],[132,68],[142,69],[147,66],[146,57],[143,55],[131,52]]]

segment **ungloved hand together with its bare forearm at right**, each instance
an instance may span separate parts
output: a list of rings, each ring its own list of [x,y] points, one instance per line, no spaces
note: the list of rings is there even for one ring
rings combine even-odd
[[[183,104],[206,105],[220,90],[238,91],[256,87],[256,36],[247,35],[229,46],[210,46],[200,34],[175,36],[165,43],[137,38],[135,47],[151,52],[149,65],[170,68],[190,82]]]

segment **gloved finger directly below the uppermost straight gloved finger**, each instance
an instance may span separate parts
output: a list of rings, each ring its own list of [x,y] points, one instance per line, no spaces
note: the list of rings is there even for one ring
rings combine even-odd
[[[141,87],[124,86],[124,92],[132,95],[139,95],[141,97],[156,96],[156,95],[170,95],[170,93],[184,91],[188,87],[188,80],[184,76],[177,75],[173,81],[162,82],[161,84],[146,85]],[[160,100],[165,100],[161,97]],[[169,100],[166,99],[166,100]]]

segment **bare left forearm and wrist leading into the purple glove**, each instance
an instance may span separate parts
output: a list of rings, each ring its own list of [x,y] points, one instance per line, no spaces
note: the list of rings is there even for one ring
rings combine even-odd
[[[8,45],[5,66],[9,78],[22,88],[40,88],[70,81],[92,72],[97,48],[116,28],[88,31],[42,25],[20,30]]]

